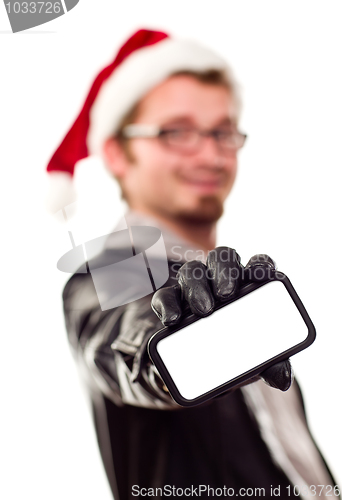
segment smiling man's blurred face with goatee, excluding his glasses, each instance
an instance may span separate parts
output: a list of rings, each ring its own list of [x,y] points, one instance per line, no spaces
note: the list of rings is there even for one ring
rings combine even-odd
[[[225,87],[179,75],[140,101],[135,123],[219,129],[236,123],[236,108]],[[235,150],[223,151],[212,137],[191,154],[158,138],[130,139],[129,148],[134,162],[127,160],[121,181],[131,208],[199,223],[222,215],[236,176]]]

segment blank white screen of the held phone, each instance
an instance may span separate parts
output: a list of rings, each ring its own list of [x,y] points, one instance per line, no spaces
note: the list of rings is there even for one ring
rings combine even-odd
[[[272,281],[165,337],[157,351],[192,400],[287,351],[308,327],[281,281]]]

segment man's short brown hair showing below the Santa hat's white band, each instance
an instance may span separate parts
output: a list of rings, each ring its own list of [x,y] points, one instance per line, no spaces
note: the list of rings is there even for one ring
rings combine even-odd
[[[230,80],[224,71],[220,71],[217,69],[212,69],[207,71],[178,71],[176,73],[172,73],[170,77],[172,76],[190,76],[200,83],[204,83],[207,85],[215,85],[217,87],[224,87],[233,94],[237,106],[239,107],[239,97],[237,95],[236,83]],[[118,130],[113,136],[113,139],[116,139],[119,142],[121,148],[123,149],[123,152],[126,155],[126,158],[132,163],[134,163],[135,158],[130,149],[129,139],[126,139],[123,136],[122,132],[123,129],[126,127],[126,125],[134,123],[136,117],[139,114],[139,110],[140,110],[140,101],[137,102],[122,118]],[[127,200],[127,196],[123,191],[122,183],[120,182],[119,179],[117,179],[117,181],[121,188],[121,198]]]

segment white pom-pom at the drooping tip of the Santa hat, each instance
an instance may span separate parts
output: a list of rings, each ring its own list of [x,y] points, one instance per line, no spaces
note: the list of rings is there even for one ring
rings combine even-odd
[[[45,204],[49,212],[56,213],[76,201],[76,191],[70,174],[55,171],[48,175],[50,186]]]

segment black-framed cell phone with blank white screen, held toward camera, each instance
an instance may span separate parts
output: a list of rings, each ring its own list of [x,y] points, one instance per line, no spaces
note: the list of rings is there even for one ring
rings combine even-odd
[[[285,274],[249,283],[200,318],[164,327],[148,353],[173,399],[195,406],[309,347],[315,327]]]

